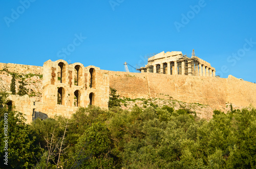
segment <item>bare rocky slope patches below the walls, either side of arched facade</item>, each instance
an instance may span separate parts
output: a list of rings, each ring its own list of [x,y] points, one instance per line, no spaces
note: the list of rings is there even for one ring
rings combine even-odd
[[[0,70],[0,90],[1,91],[10,91],[10,84],[12,80],[12,74],[8,70]],[[16,77],[16,92],[18,91],[19,81],[23,78],[27,83],[26,87],[29,89],[28,95],[32,98],[36,98],[36,101],[41,101],[41,93],[42,93],[42,75],[36,74],[20,74],[14,73]],[[148,106],[152,107],[162,107],[163,105],[167,105],[173,107],[175,110],[178,109],[189,109],[190,111],[197,112],[197,116],[200,118],[210,119],[212,118],[212,114],[214,109],[212,109],[209,105],[202,105],[199,103],[185,103],[177,100],[173,100],[170,98],[166,99],[130,99],[130,98],[120,98],[121,107],[125,110],[131,110],[134,106],[138,106],[140,108],[146,108]],[[232,105],[233,109],[242,109],[243,107],[237,107],[236,105]],[[221,111],[227,112],[230,110],[230,104],[226,104],[225,108],[222,108]]]

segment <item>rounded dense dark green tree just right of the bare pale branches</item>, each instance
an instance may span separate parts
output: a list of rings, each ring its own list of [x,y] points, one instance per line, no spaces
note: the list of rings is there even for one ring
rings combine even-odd
[[[94,123],[78,139],[74,163],[80,163],[81,168],[114,168],[117,157],[112,147],[109,129],[103,123]]]

